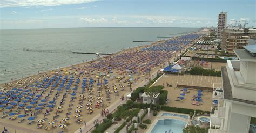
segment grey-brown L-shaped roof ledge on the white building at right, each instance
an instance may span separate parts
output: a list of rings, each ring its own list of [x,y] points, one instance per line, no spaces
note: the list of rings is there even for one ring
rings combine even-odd
[[[247,104],[249,106],[256,107],[256,102],[237,99],[237,98],[232,97],[231,84],[230,84],[230,79],[228,78],[226,67],[221,67],[221,77],[223,80],[223,91],[224,91],[224,99],[225,100],[230,100],[230,101],[237,102],[240,104]]]

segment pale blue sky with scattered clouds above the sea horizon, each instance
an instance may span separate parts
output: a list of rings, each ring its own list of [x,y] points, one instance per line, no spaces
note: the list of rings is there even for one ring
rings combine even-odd
[[[255,0],[1,0],[0,29],[217,27],[221,11],[256,27]]]

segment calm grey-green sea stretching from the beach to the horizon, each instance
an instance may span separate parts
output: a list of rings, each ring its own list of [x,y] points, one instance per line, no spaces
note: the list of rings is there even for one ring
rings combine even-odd
[[[64,50],[92,53],[116,53],[130,47],[149,45],[144,42],[165,40],[173,34],[188,34],[200,28],[55,28],[0,30],[0,83],[89,61],[96,55],[70,53],[43,53],[23,51]],[[170,35],[172,34],[172,35]],[[5,71],[6,70],[6,71]]]

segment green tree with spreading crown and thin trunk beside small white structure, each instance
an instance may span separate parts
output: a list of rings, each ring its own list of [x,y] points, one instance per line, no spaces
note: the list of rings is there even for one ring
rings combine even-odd
[[[158,85],[145,89],[146,95],[150,97],[150,108],[152,107],[154,99],[157,97],[158,93],[160,93],[163,88],[164,86]]]

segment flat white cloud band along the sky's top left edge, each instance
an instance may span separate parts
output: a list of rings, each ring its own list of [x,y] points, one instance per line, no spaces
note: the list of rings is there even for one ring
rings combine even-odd
[[[0,7],[18,6],[59,6],[68,4],[82,4],[96,0],[1,0]]]

